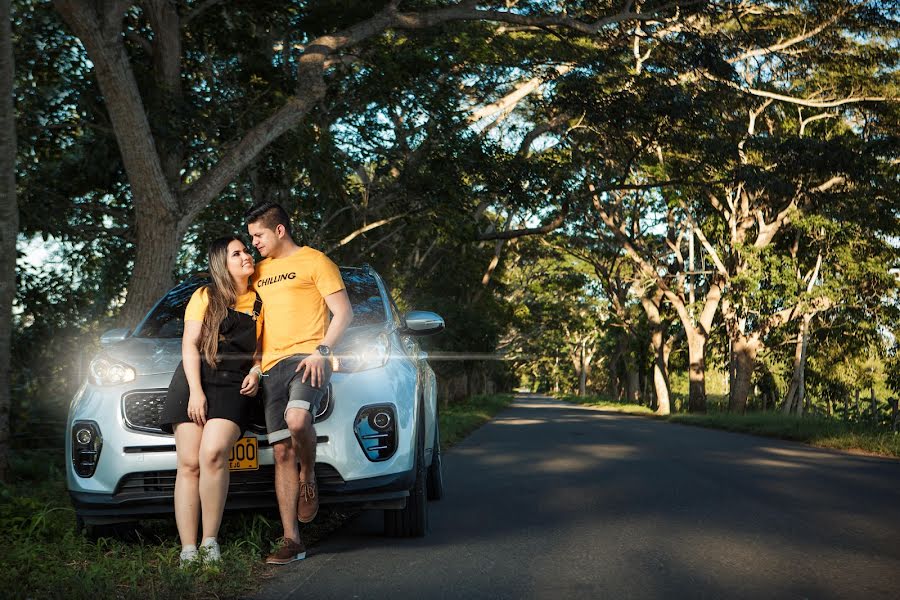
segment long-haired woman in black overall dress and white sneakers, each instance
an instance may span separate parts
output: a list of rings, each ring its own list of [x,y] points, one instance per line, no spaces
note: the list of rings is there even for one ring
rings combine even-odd
[[[198,508],[203,558],[221,558],[216,536],[228,494],[228,454],[250,425],[261,375],[262,301],[248,286],[253,268],[253,257],[239,238],[215,240],[209,246],[211,281],[194,292],[184,313],[182,360],[160,418],[164,431],[175,432],[175,522],[182,565],[200,558]]]

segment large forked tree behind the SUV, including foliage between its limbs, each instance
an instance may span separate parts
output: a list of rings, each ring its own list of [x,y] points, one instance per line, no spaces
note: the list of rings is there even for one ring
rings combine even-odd
[[[340,65],[352,64],[352,52],[384,32],[491,20],[596,35],[634,19],[653,20],[657,13],[674,11],[679,3],[641,14],[631,10],[629,3],[593,22],[531,5],[512,10],[505,5],[479,8],[478,3],[467,0],[436,8],[426,3],[416,12],[401,12],[401,4],[399,0],[365,3],[335,13],[330,5],[307,7],[302,3],[232,8],[195,2],[180,10],[168,0],[147,0],[140,5],[128,0],[54,1],[93,63],[128,175],[135,260],[123,311],[126,322],[136,320],[169,286],[178,249],[199,212],[275,140],[306,121],[327,97],[333,77],[354,76],[354,69],[342,71]],[[280,10],[267,13],[266,9],[276,6]],[[213,22],[217,28],[211,31],[211,26],[201,21]],[[262,42],[260,54],[248,56],[243,48],[231,56],[214,55],[217,44],[227,47],[230,36],[242,37],[227,26],[229,21],[252,24],[267,33],[261,40],[251,40],[251,48],[253,41],[257,47]],[[192,46],[198,42],[205,46]],[[278,58],[274,56],[276,46],[281,47]],[[198,112],[210,110],[210,95],[219,91],[217,81],[214,76],[198,77],[193,85],[185,80],[186,64],[203,72],[197,62],[204,60],[226,69],[237,62],[243,67],[240,71],[251,75],[250,83],[254,71],[276,70],[279,63],[286,76],[276,94],[247,105],[249,114],[259,115],[261,120],[247,127],[223,124],[225,131],[204,138],[202,129],[189,127],[196,124]],[[266,80],[268,77],[263,77]]]

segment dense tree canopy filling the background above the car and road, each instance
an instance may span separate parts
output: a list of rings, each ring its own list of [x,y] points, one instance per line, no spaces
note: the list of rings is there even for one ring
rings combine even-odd
[[[734,411],[830,411],[862,371],[887,400],[891,3],[12,7],[19,247],[56,262],[19,257],[22,406],[77,379],[31,357],[133,326],[260,199],[444,315],[447,398],[703,411],[716,370]]]

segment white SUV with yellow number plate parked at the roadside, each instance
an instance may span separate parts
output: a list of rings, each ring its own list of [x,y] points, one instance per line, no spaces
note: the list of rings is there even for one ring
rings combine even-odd
[[[441,497],[443,482],[437,386],[416,338],[442,331],[444,321],[424,311],[401,315],[368,266],[342,267],[341,275],[354,319],[315,415],[320,499],[384,509],[385,533],[422,536],[427,500]],[[174,437],[158,419],[181,360],[184,308],[205,281],[173,288],[134,331],[101,337],[67,421],[68,489],[88,534],[174,511]],[[254,423],[232,449],[226,510],[276,506],[261,404]]]

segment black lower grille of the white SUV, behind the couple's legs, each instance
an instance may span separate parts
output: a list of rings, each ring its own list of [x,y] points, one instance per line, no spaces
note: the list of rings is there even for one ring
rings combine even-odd
[[[316,481],[322,488],[344,483],[344,478],[331,465],[316,463]],[[261,466],[256,471],[233,471],[228,484],[228,494],[261,494],[275,490],[275,468]],[[175,471],[146,471],[129,473],[119,480],[115,496],[122,498],[142,494],[175,493]]]

